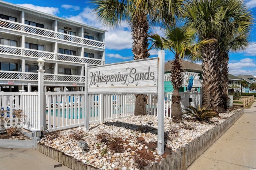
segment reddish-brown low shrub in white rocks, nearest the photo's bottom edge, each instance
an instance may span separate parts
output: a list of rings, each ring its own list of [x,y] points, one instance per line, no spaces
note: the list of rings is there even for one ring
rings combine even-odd
[[[134,162],[140,169],[143,169],[145,166],[148,166],[150,162],[154,161],[154,155],[152,151],[147,152],[146,149],[138,150],[133,157]]]

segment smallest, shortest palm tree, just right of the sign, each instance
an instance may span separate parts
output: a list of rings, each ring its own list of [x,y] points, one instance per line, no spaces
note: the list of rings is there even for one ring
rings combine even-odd
[[[214,39],[203,40],[196,43],[196,30],[186,26],[175,26],[168,28],[164,34],[165,37],[154,33],[150,35],[153,41],[153,48],[157,50],[168,49],[174,53],[174,61],[171,70],[171,82],[174,88],[172,93],[172,117],[181,118],[180,94],[179,89],[183,81],[182,65],[180,61],[184,57],[196,60],[198,51],[203,44],[211,43]]]

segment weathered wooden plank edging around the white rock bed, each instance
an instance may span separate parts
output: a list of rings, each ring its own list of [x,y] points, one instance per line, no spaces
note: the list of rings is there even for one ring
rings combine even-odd
[[[244,109],[234,113],[223,123],[216,125],[214,128],[205,132],[200,137],[189,142],[185,146],[182,145],[180,149],[172,155],[167,155],[162,158],[161,162],[153,162],[152,166],[146,166],[145,170],[186,170],[201,154],[204,153],[217,139],[219,139],[242,115]],[[37,144],[37,150],[54,160],[57,160],[64,166],[72,170],[99,170],[93,166],[84,164],[75,158],[64,154],[51,147],[46,147],[40,143]]]

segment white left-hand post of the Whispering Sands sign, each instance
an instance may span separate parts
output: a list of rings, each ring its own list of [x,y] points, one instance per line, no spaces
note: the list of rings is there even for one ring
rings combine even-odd
[[[87,80],[88,80],[88,66],[89,64],[86,63],[85,64],[85,67],[84,67],[84,112],[85,112],[85,115],[84,115],[84,128],[85,130],[89,130],[89,115],[90,115],[90,108],[89,108],[89,96],[88,96],[88,83],[87,83]],[[93,114],[93,113],[92,113]]]

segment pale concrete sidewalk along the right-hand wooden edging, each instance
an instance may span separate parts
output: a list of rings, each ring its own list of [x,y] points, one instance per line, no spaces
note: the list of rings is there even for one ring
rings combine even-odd
[[[188,170],[256,170],[256,102]]]

